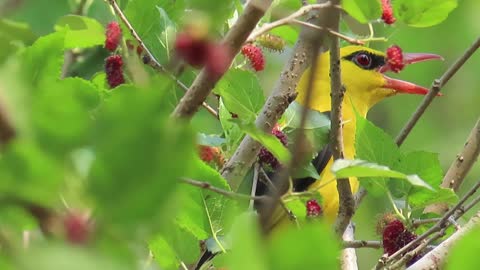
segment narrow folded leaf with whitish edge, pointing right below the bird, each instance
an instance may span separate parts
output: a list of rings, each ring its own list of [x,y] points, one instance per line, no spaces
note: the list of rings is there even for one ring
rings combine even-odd
[[[422,188],[434,190],[425,181],[420,179],[418,175],[406,175],[404,173],[394,171],[387,166],[379,165],[376,163],[367,162],[364,160],[345,160],[337,159],[332,165],[332,172],[337,178],[347,177],[389,177],[398,178],[408,181],[410,184]],[[371,180],[375,181],[375,179]],[[379,183],[378,185],[381,185]],[[384,187],[384,186],[382,186]]]

